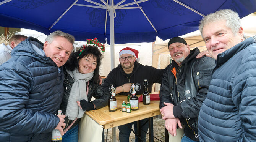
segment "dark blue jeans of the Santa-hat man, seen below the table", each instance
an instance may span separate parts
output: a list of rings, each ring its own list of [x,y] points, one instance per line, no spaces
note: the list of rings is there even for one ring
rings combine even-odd
[[[147,130],[149,128],[148,123],[146,123],[144,126],[142,126],[147,121],[147,119],[143,119],[143,120],[139,120],[139,121],[141,123],[141,129],[144,130],[145,132],[147,132]],[[128,123],[127,125],[130,128],[134,125],[135,133],[137,133],[137,121],[132,122],[132,123]],[[119,129],[119,141],[120,142],[129,142],[129,137],[130,137],[130,134],[131,134],[131,129],[128,126],[126,126],[126,125],[118,126],[118,129]],[[147,133],[145,133],[144,131],[141,131],[141,139],[144,142],[146,142],[146,135],[147,135]],[[137,138],[136,135],[135,135],[135,142],[138,142],[138,138]]]

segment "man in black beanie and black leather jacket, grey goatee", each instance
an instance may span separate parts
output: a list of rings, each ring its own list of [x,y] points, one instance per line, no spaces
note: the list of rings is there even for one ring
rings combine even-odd
[[[187,42],[180,37],[170,39],[168,49],[173,60],[164,71],[159,104],[165,128],[176,136],[177,124],[182,128],[182,123],[185,128],[181,142],[197,142],[198,114],[215,61],[205,56],[196,59],[199,49],[190,51]]]

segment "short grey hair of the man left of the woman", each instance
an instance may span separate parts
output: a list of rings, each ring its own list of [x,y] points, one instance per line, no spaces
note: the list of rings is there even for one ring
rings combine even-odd
[[[51,33],[50,35],[47,36],[47,38],[45,39],[45,41],[48,41],[49,44],[52,43],[52,41],[54,40],[54,38],[58,37],[58,36],[62,36],[63,38],[66,38],[70,43],[72,43],[72,46],[73,46],[73,50],[75,49],[74,47],[74,41],[75,41],[75,38],[73,35],[70,35],[68,33],[64,33],[62,31],[54,31],[53,33]]]

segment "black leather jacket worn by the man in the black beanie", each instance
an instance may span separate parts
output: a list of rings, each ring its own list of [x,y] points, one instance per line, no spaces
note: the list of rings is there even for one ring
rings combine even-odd
[[[165,106],[164,102],[174,105],[174,116],[186,126],[185,135],[194,141],[198,141],[198,138],[195,138],[195,135],[198,134],[198,114],[206,97],[212,70],[215,66],[213,58],[204,56],[196,59],[199,52],[197,48],[190,51],[180,67],[172,60],[172,64],[165,68],[159,104],[160,109]]]

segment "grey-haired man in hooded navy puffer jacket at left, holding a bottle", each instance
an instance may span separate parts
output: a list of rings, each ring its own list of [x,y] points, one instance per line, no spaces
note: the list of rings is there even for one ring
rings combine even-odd
[[[42,44],[29,37],[0,66],[0,141],[49,142],[53,129],[63,134],[65,115],[55,115],[63,96],[62,65],[74,37],[61,31]]]

